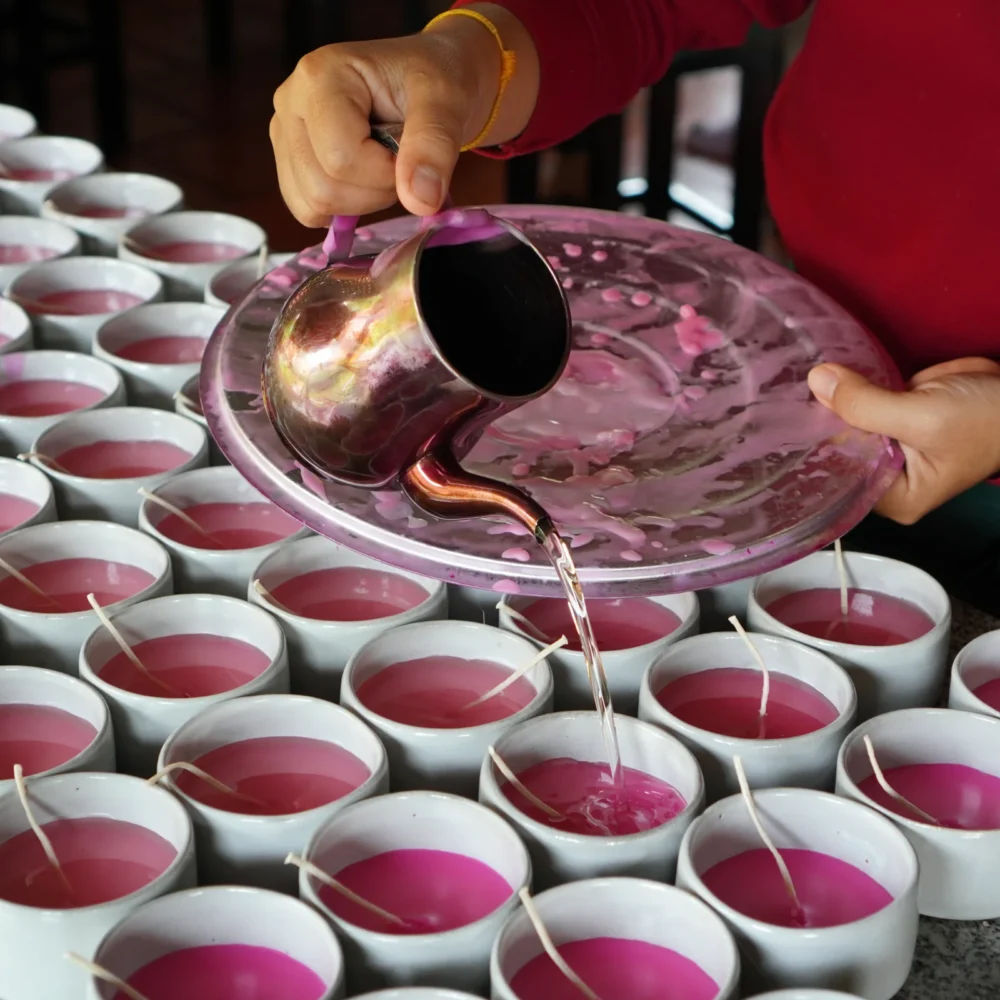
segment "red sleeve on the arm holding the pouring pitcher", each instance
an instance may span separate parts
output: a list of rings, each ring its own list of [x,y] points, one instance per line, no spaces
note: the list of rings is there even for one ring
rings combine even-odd
[[[476,0],[458,0],[468,7]],[[525,131],[493,155],[554,146],[621,111],[682,49],[739,45],[756,20],[799,17],[810,0],[493,0],[527,29],[541,86]]]

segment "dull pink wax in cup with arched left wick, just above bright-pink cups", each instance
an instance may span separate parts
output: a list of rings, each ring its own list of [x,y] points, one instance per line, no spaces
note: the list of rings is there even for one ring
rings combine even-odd
[[[305,736],[240,740],[191,763],[247,798],[220,792],[187,772],[176,776],[181,791],[216,809],[250,816],[316,809],[343,798],[371,777],[364,761],[343,747]]]

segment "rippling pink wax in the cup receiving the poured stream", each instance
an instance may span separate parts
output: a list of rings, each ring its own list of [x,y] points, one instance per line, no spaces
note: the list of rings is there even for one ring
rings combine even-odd
[[[504,795],[525,815],[567,833],[614,837],[662,826],[687,803],[672,785],[650,774],[625,768],[625,794],[615,792],[607,764],[558,757],[517,774],[529,792],[562,813],[556,819],[526,799],[510,782]]]

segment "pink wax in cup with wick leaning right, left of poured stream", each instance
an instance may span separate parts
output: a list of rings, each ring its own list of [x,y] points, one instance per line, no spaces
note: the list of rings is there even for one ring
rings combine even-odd
[[[358,688],[358,700],[383,718],[428,729],[461,729],[498,722],[527,708],[534,685],[519,677],[482,704],[477,698],[505,681],[514,669],[491,660],[423,656],[394,663]]]

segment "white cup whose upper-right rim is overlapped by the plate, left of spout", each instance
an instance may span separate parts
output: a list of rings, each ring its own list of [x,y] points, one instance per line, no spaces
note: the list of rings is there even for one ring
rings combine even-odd
[[[152,492],[181,510],[205,503],[260,504],[261,510],[274,509],[271,502],[265,500],[231,465],[181,473]],[[139,508],[139,527],[170,553],[179,593],[209,592],[245,597],[247,585],[262,559],[277,552],[282,545],[309,534],[307,528],[300,527],[287,539],[270,545],[249,549],[201,549],[167,538],[160,531],[160,524],[170,516],[166,508],[144,499]],[[278,614],[272,605],[265,603],[262,606]]]

